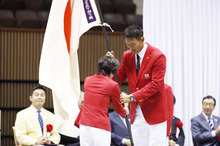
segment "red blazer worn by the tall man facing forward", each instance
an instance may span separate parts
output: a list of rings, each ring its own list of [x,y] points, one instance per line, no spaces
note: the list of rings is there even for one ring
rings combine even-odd
[[[119,84],[128,78],[129,92],[136,102],[131,101],[131,124],[134,122],[136,103],[141,107],[148,124],[154,125],[167,120],[167,100],[164,89],[166,57],[157,48],[148,44],[138,76],[135,68],[135,54],[124,52],[117,72]]]

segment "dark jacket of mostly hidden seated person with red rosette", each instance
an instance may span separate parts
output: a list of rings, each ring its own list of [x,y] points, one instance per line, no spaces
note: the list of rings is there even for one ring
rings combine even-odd
[[[173,140],[176,142],[176,144],[183,146],[184,145],[184,141],[185,141],[185,135],[183,132],[183,128],[180,128],[180,132],[179,135],[176,136],[176,132],[177,132],[177,126],[176,126],[176,122],[179,121],[180,119],[173,116],[173,120],[172,120],[172,129],[171,129],[171,133],[169,135],[169,140]],[[177,138],[178,137],[178,138]]]

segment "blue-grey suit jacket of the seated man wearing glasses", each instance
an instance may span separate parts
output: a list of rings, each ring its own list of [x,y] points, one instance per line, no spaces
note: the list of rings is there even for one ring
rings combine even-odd
[[[213,122],[216,129],[220,125],[220,117],[213,115]],[[219,135],[212,137],[211,131],[202,113],[191,119],[191,132],[197,146],[211,146],[217,142],[217,136]]]

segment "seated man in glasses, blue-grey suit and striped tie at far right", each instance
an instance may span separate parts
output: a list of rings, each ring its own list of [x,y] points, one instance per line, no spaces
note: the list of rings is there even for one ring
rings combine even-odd
[[[218,146],[220,144],[220,117],[212,111],[216,100],[212,96],[202,99],[203,112],[191,119],[191,132],[197,146]]]

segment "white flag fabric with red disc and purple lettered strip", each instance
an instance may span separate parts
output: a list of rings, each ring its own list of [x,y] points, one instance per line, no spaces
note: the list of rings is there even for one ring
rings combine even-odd
[[[80,36],[100,25],[94,0],[53,0],[39,66],[39,83],[53,92],[58,132],[77,137]],[[89,49],[89,48],[88,48]]]

